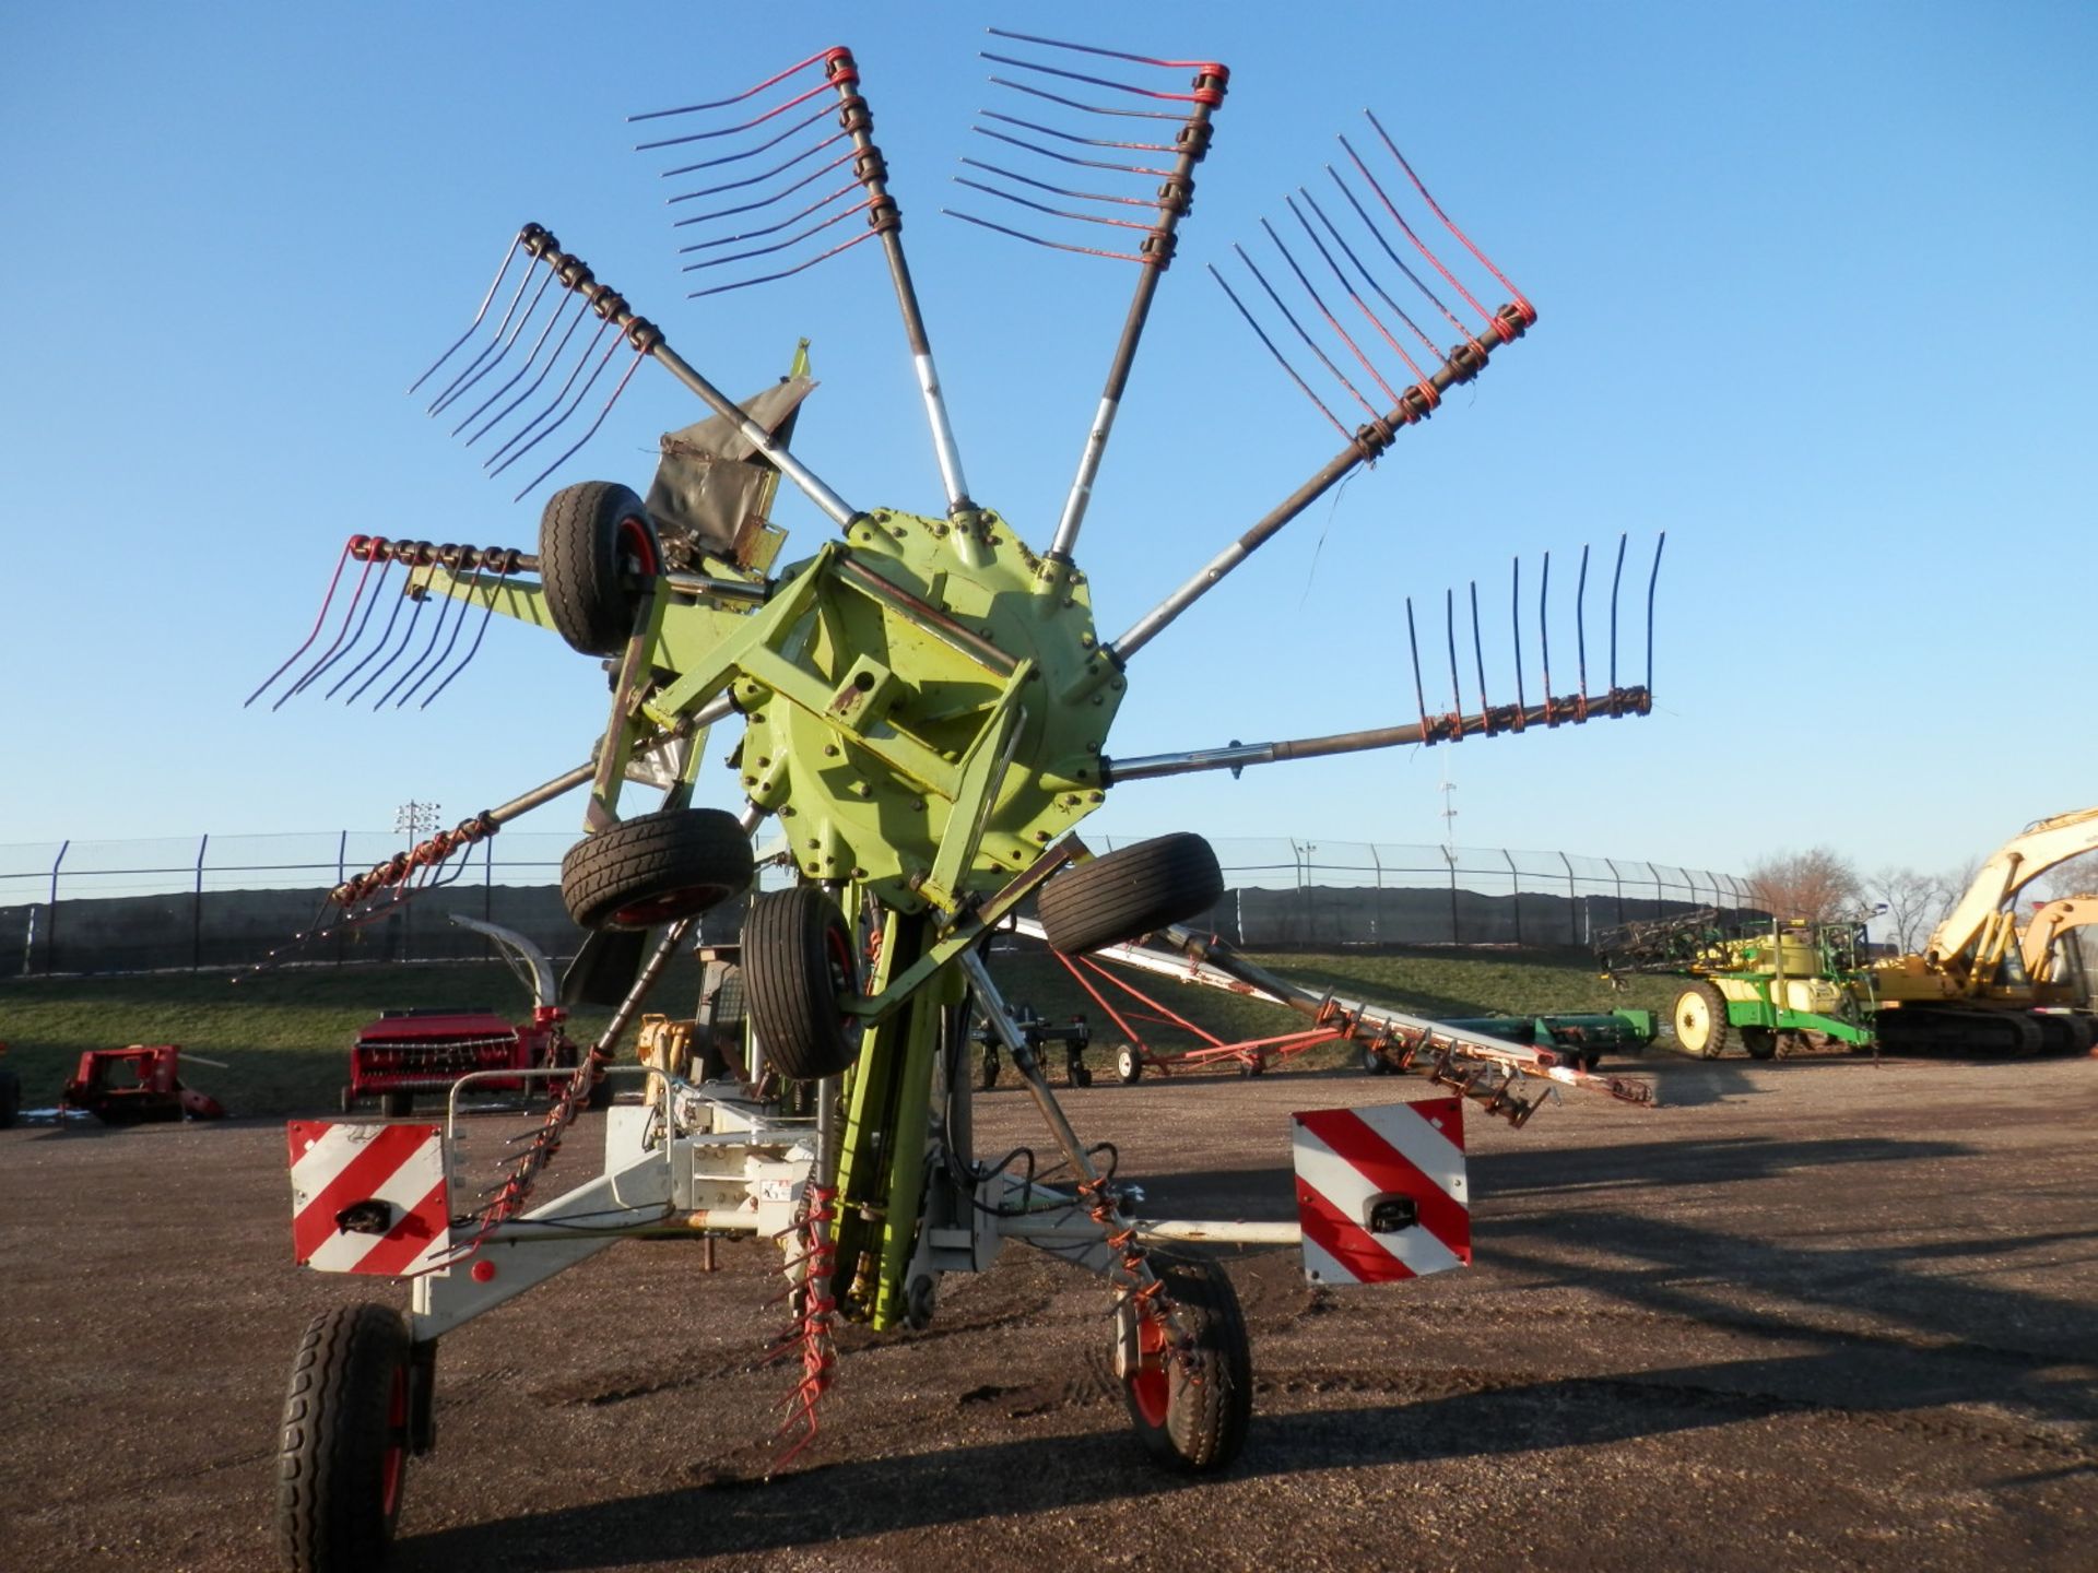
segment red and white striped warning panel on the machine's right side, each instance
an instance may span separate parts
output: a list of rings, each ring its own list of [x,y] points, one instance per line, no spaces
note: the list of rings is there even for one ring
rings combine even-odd
[[[1290,1118],[1305,1277],[1391,1284],[1471,1267],[1464,1099]]]

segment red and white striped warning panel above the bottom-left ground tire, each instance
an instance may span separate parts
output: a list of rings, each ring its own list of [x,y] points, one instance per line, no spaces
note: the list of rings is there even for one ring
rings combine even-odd
[[[292,1252],[323,1273],[415,1273],[451,1252],[445,1133],[294,1120]]]

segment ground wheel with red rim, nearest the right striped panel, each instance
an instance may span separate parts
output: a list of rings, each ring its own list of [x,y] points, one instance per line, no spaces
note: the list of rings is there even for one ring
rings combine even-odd
[[[1122,1401],[1152,1460],[1190,1474],[1225,1468],[1253,1418],[1253,1346],[1238,1292],[1211,1260],[1152,1252],[1166,1296],[1194,1321],[1194,1346],[1162,1355],[1164,1370],[1131,1374]]]

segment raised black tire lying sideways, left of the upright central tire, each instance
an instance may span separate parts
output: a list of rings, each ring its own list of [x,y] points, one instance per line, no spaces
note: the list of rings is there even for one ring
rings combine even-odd
[[[560,900],[583,929],[652,929],[751,887],[751,837],[718,807],[663,807],[608,824],[560,860]]]

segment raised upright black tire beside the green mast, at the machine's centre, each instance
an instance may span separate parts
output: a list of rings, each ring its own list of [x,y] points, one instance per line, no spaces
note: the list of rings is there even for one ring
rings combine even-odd
[[[860,1023],[839,1009],[858,992],[852,931],[837,902],[814,885],[751,898],[743,988],[751,1032],[783,1076],[814,1082],[860,1057]]]

